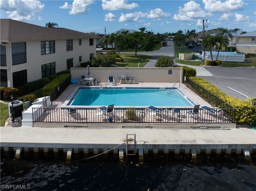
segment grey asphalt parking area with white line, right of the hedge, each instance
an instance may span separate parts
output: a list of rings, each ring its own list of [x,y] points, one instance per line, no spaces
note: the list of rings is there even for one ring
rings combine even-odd
[[[190,66],[189,66],[190,67]],[[256,97],[256,68],[204,67],[213,76],[202,76],[232,97]]]

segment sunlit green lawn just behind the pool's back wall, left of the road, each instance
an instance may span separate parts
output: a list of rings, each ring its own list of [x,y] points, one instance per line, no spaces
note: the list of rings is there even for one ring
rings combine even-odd
[[[141,54],[137,54],[137,57],[134,57],[134,54],[120,54],[120,56],[124,59],[124,63],[116,63],[115,65],[131,68],[137,68],[139,62],[140,67],[143,67],[151,58],[151,56]],[[141,59],[143,60],[142,62]]]

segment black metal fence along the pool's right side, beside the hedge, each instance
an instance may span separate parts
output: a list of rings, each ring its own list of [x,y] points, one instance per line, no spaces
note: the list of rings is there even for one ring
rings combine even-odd
[[[229,112],[224,112],[226,117],[228,117],[229,120],[234,121],[234,112],[235,109],[231,105],[229,105],[227,102],[223,101],[219,97],[215,96],[211,92],[209,92],[207,89],[203,88],[202,86],[196,84],[193,80],[183,76],[183,83],[193,92],[195,92],[197,95],[202,97],[206,102],[210,103],[213,107],[219,107],[219,108],[228,108],[232,111],[231,113]]]

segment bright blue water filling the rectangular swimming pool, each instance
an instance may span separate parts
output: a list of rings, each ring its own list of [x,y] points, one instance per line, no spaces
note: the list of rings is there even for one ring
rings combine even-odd
[[[171,93],[170,93],[171,91]],[[168,94],[169,92],[169,94]],[[68,105],[191,106],[177,89],[80,88]]]

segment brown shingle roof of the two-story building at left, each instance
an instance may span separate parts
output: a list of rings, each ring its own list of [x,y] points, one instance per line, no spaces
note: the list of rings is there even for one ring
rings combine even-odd
[[[0,28],[0,40],[9,42],[98,38],[95,35],[75,30],[41,27],[12,19],[1,19]]]

